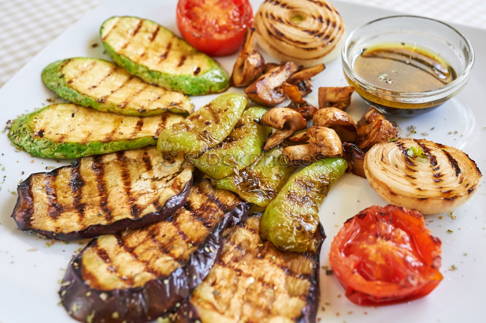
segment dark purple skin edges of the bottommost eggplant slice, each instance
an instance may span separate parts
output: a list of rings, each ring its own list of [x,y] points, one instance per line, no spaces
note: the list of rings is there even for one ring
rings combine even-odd
[[[309,277],[311,281],[311,288],[307,297],[307,306],[302,309],[302,315],[295,320],[295,323],[315,323],[317,308],[319,306],[319,255],[321,252],[322,243],[326,238],[324,228],[319,222],[318,228],[314,234],[314,238],[319,241],[315,252],[308,252],[306,255],[314,261],[313,275]],[[186,299],[174,314],[169,314],[171,321],[175,323],[212,323],[201,320],[197,312],[197,308],[190,302],[190,298]]]

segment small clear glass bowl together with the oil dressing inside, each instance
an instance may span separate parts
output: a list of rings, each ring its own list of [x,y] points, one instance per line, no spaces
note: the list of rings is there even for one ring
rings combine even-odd
[[[388,114],[430,111],[469,80],[474,51],[451,26],[430,18],[393,16],[354,30],[341,52],[343,71],[364,100]]]

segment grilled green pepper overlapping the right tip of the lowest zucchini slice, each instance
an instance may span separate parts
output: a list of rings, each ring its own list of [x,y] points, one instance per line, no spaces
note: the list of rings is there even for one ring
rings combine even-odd
[[[188,160],[194,160],[229,135],[246,103],[248,99],[241,94],[218,96],[186,119],[164,129],[157,141],[158,151],[164,156],[185,153]]]

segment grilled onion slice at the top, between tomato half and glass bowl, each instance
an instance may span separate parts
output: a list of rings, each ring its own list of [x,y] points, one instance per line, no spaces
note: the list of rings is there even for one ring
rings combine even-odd
[[[261,48],[305,67],[336,58],[344,40],[344,21],[325,0],[265,1],[253,24]]]

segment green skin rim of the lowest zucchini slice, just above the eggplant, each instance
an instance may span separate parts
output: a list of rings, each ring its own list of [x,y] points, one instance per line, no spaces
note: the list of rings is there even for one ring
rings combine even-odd
[[[57,105],[72,105],[76,106],[71,103],[60,103],[60,104],[53,104],[43,107],[39,110],[36,110],[32,113],[23,115],[18,119],[12,122],[10,130],[8,132],[9,139],[13,142],[13,144],[25,150],[26,152],[30,153],[36,157],[45,157],[45,158],[80,158],[89,155],[97,155],[103,153],[112,153],[121,150],[127,149],[136,149],[145,147],[148,145],[155,145],[157,142],[156,139],[156,129],[154,129],[154,134],[152,136],[139,136],[139,137],[131,137],[127,135],[125,139],[119,140],[92,140],[87,142],[75,142],[63,140],[52,140],[49,137],[46,137],[44,133],[48,133],[49,131],[55,131],[54,129],[44,129],[42,133],[39,131],[35,131],[35,122],[39,114],[41,113],[49,113],[49,110],[52,107]],[[76,106],[77,109],[86,109],[92,110],[89,108],[85,108],[82,106]],[[113,119],[114,116],[117,118],[123,119],[123,116],[119,116],[109,112],[97,112],[96,110],[92,110],[98,114],[106,114],[107,118]],[[183,117],[178,114],[172,114],[170,112],[164,113],[166,116],[166,125],[170,125],[174,122],[178,122],[182,120]],[[69,116],[71,113],[69,113]],[[69,116],[59,116],[59,115],[52,115],[52,118],[64,118],[66,119]],[[153,117],[145,117],[145,118],[158,118],[159,116]],[[136,117],[128,117],[128,118],[136,118]],[[69,118],[68,118],[69,119]],[[139,118],[143,119],[143,118]],[[160,124],[160,127],[163,125]],[[94,129],[96,130],[96,129]]]

